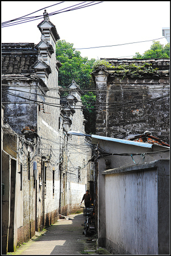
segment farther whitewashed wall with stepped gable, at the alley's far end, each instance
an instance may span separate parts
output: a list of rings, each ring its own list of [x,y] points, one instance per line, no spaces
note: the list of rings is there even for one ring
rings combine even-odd
[[[72,81],[72,86],[74,86],[74,81]],[[70,101],[71,109],[69,111],[66,108],[66,112],[70,117],[71,124],[65,125],[64,130],[84,133],[84,116],[79,92],[77,90],[71,92],[68,101]],[[87,172],[89,171],[88,160],[91,157],[91,148],[83,136],[64,136],[64,139],[66,146],[64,147],[62,190],[67,191],[67,197],[63,196],[63,202],[66,200],[68,212],[74,212],[74,209],[80,210],[79,203],[88,188]]]

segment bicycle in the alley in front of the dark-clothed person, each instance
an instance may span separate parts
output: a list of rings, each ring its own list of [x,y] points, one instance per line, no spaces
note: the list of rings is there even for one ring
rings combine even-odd
[[[81,206],[82,207],[82,206]],[[85,222],[82,224],[84,227],[83,234],[87,237],[91,229],[94,229],[90,225],[95,221],[95,212],[94,207],[82,207],[83,208],[83,216],[85,216]]]

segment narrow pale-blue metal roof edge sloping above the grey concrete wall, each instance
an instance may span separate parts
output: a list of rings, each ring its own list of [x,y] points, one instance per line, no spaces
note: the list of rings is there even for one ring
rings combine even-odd
[[[153,144],[149,143],[143,143],[138,141],[132,141],[132,140],[123,140],[123,139],[116,139],[111,137],[105,137],[105,136],[99,136],[99,135],[91,135],[92,138],[99,139],[99,140],[109,140],[109,141],[115,141],[119,143],[129,144],[129,145],[136,145],[139,147],[145,147],[145,148],[152,148]]]

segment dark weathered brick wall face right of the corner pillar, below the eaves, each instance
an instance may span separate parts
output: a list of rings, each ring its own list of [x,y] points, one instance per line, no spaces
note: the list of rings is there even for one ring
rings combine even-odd
[[[152,132],[169,143],[169,93],[168,79],[130,79],[118,78],[108,81],[107,136],[127,138],[131,135]],[[152,100],[157,99],[158,100]],[[133,105],[144,101],[144,104]],[[118,103],[124,107],[117,107]]]

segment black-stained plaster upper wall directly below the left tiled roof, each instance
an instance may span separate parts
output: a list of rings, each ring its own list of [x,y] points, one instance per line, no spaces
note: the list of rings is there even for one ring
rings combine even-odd
[[[13,81],[9,81],[8,86],[4,88],[9,90],[9,93],[14,93],[19,97],[2,93],[2,101],[9,103],[4,104],[6,123],[10,124],[15,132],[21,134],[22,128],[25,126],[31,127],[35,131],[37,129],[36,104],[33,104],[36,101],[36,94],[32,94],[35,93],[35,89],[32,88],[35,86],[35,82],[31,80],[26,82],[25,78],[23,78],[23,81],[19,81],[20,86],[17,86],[18,79],[17,77],[13,78]],[[28,104],[29,101],[26,99],[34,101],[30,101],[30,104]]]

